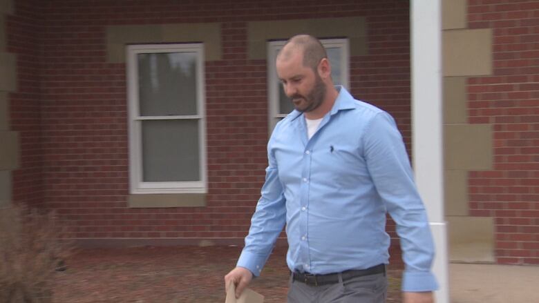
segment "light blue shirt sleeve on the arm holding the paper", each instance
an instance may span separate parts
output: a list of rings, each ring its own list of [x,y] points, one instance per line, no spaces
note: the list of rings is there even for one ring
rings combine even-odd
[[[268,167],[261,198],[251,219],[249,235],[245,237],[245,248],[236,266],[249,269],[253,275],[260,275],[264,264],[272,252],[278,235],[286,222],[286,205],[283,186],[278,177],[276,159],[271,153],[272,140],[268,144]]]

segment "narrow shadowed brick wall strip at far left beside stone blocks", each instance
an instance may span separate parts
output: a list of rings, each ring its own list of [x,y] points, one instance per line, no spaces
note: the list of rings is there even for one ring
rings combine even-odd
[[[15,1],[14,1],[15,2]],[[6,18],[7,51],[17,56],[17,90],[10,92],[10,130],[19,133],[20,168],[12,171],[12,199],[43,202],[43,151],[40,120],[41,1],[21,1]]]

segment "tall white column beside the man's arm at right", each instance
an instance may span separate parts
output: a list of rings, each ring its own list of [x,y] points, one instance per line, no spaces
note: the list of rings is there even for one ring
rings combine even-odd
[[[433,271],[437,303],[449,303],[447,231],[444,219],[441,0],[410,1],[412,157],[417,188],[436,246]]]

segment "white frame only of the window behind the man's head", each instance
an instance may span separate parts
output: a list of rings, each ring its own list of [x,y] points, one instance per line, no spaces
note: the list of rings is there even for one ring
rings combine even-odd
[[[325,48],[341,48],[341,79],[342,86],[350,88],[350,49],[348,39],[321,39],[320,42]],[[277,50],[281,50],[286,41],[269,41],[267,43],[267,99],[268,99],[268,114],[269,114],[269,134],[271,135],[273,128],[278,121],[286,117],[287,114],[279,112],[279,87],[281,81],[277,76],[275,60]]]

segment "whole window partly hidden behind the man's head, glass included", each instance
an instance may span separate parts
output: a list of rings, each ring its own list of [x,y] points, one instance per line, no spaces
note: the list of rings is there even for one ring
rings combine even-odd
[[[333,83],[349,88],[348,39],[322,39],[321,42],[328,52]],[[294,110],[292,101],[286,97],[283,86],[278,80],[275,68],[275,59],[284,45],[285,41],[272,41],[267,46],[269,133],[272,132],[278,121]]]

